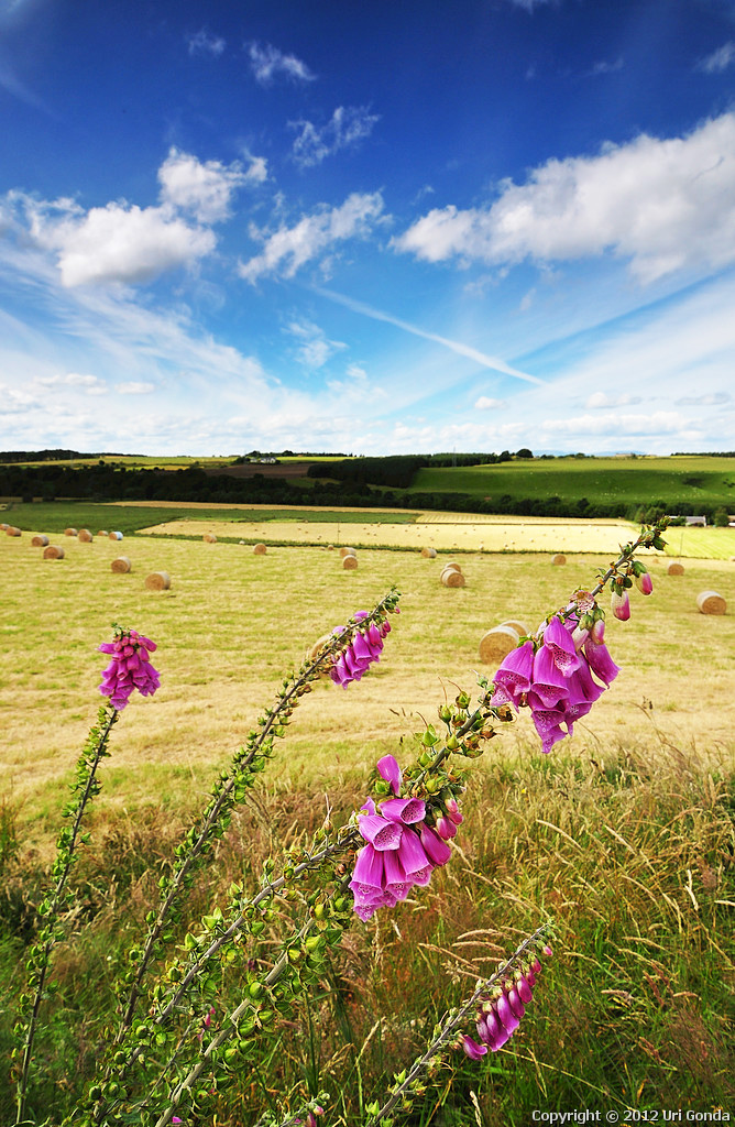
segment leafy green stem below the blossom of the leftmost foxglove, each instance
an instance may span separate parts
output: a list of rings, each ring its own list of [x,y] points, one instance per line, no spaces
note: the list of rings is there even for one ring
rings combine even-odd
[[[23,1059],[20,1064],[20,1076],[18,1080],[16,1100],[16,1125],[23,1122],[25,1113],[30,1062],[33,1059],[33,1045],[36,1029],[38,1027],[41,1002],[46,985],[46,978],[48,976],[51,952],[61,938],[56,933],[55,921],[61,914],[62,905],[65,904],[67,907],[71,906],[67,889],[67,881],[69,879],[71,868],[77,860],[76,849],[79,840],[81,820],[85,815],[87,804],[99,792],[97,767],[99,766],[100,760],[108,754],[107,743],[109,740],[109,734],[113,729],[113,725],[117,720],[118,715],[118,710],[112,704],[103,706],[99,710],[99,728],[92,728],[90,731],[89,743],[87,745],[88,751],[81,754],[78,762],[78,783],[74,787],[74,790],[81,789],[81,793],[74,810],[74,820],[70,829],[63,829],[59,835],[56,863],[53,869],[54,876],[56,877],[56,886],[51,894],[51,898],[47,900],[44,911],[44,917],[48,921],[44,930],[50,931],[51,934],[41,947],[41,950],[38,950],[36,955],[32,956],[28,964],[28,969],[36,976],[36,991],[23,1045]],[[91,760],[89,758],[90,754]]]

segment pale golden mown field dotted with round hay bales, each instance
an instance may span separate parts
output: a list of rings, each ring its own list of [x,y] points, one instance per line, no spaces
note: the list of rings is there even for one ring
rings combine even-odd
[[[461,558],[467,586],[453,589],[439,579],[449,557],[431,560],[415,550],[362,550],[358,568],[345,571],[326,547],[271,547],[255,556],[237,543],[61,538],[65,558],[54,561],[30,538],[0,536],[0,793],[20,805],[39,841],[54,832],[101,701],[106,658],[97,646],[109,639],[112,622],[159,644],[161,689],[133,698],[123,712],[103,767],[100,810],[113,804],[132,813],[148,802],[174,810],[206,790],[307,648],[396,584],[402,613],[380,665],[347,690],[320,683],[280,745],[271,778],[303,778],[327,792],[389,751],[400,758],[401,738],[434,719],[444,694],[472,691],[477,669],[492,675],[478,659],[489,627],[514,618],[535,628],[612,559],[568,554],[566,566],[552,567],[543,554],[470,552]],[[121,551],[132,560],[127,575],[110,570]],[[684,575],[673,577],[668,561],[650,554],[653,596],[634,592],[630,621],[608,619],[608,645],[622,673],[552,754],[604,757],[631,747],[653,757],[663,739],[687,756],[732,758],[735,566],[688,561]],[[169,573],[169,591],[145,589],[153,570]],[[726,615],[699,613],[702,589],[727,600]],[[506,728],[493,746],[498,754],[538,749],[530,719]]]

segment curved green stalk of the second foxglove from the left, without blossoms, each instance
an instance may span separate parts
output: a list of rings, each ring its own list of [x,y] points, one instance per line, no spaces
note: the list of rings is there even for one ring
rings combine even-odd
[[[229,772],[223,772],[212,791],[212,799],[205,808],[198,825],[193,826],[185,841],[177,846],[177,863],[172,877],[161,878],[162,899],[158,913],[149,913],[148,935],[135,970],[127,976],[130,992],[123,1008],[123,1017],[117,1030],[115,1045],[121,1045],[131,1028],[143,978],[152,959],[161,952],[161,937],[169,920],[175,915],[181,895],[191,887],[195,870],[212,848],[213,840],[222,837],[233,807],[245,798],[246,791],[255,784],[255,778],[265,769],[266,758],[273,754],[273,742],[283,738],[294,708],[301,696],[311,692],[311,682],[331,665],[336,655],[349,645],[358,630],[370,623],[381,621],[398,603],[395,588],[363,619],[351,620],[334,641],[328,642],[319,655],[304,663],[299,672],[284,682],[275,704],[259,718],[259,731],[251,731],[246,745],[236,753]]]

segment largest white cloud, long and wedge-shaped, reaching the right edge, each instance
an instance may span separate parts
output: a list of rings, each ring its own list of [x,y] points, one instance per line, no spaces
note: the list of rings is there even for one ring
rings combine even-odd
[[[550,160],[486,207],[434,208],[393,240],[437,263],[627,258],[643,283],[735,261],[735,113],[682,137],[641,134],[596,157]]]

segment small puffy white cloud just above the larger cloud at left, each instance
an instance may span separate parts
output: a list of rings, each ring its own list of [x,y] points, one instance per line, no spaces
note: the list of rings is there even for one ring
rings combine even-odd
[[[200,223],[228,219],[234,192],[248,180],[262,181],[266,175],[263,158],[245,170],[238,160],[231,165],[219,160],[202,163],[191,153],[174,148],[158,170],[161,202],[191,212]]]

